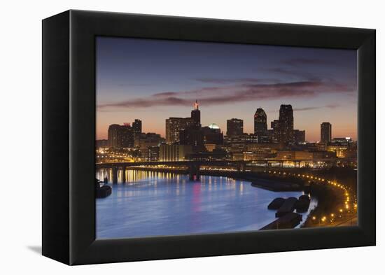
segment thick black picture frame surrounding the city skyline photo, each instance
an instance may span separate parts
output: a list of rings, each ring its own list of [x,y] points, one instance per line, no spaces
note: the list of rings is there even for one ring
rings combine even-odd
[[[95,240],[95,36],[356,49],[358,226]],[[43,255],[67,265],[374,246],[375,30],[68,10],[43,20]]]

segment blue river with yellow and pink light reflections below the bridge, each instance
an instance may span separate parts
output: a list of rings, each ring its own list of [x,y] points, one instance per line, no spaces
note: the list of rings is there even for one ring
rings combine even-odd
[[[110,173],[102,169],[97,178],[111,178]],[[201,176],[194,182],[182,174],[126,173],[127,183],[109,183],[112,194],[96,201],[97,239],[259,230],[275,219],[275,211],[267,210],[272,199],[302,195],[226,177]],[[309,211],[316,203],[311,198]],[[303,221],[309,211],[302,213]]]

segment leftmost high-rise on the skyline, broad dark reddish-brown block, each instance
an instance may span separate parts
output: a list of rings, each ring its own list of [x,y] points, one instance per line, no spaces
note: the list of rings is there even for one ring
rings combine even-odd
[[[124,125],[113,124],[109,126],[109,147],[134,147],[134,131],[129,123],[125,123]]]

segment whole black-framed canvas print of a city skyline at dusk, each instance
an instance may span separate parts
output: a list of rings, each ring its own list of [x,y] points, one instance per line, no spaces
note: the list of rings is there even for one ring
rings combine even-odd
[[[375,31],[43,20],[43,255],[375,245]]]

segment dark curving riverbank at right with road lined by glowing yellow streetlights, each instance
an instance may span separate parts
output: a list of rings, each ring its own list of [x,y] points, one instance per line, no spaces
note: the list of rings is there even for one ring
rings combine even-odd
[[[304,220],[301,228],[342,226],[348,224],[344,223],[346,220],[349,220],[349,225],[353,224],[352,220],[357,224],[354,173],[349,174],[346,169],[317,171],[318,173],[302,169],[301,172],[301,174],[296,174],[273,170],[239,175],[237,179],[251,181],[251,186],[255,188],[274,192],[304,191],[314,197],[318,203]],[[335,180],[330,181],[327,178],[321,178],[320,175],[328,175]],[[337,183],[336,179],[343,181],[345,177],[346,185]]]

